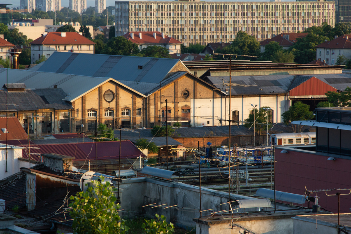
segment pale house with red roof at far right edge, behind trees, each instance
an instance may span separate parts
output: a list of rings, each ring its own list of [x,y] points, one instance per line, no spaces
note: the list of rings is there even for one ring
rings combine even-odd
[[[335,65],[339,55],[351,58],[351,34],[335,36],[334,40],[325,41],[316,46],[317,59],[325,61],[328,65]]]

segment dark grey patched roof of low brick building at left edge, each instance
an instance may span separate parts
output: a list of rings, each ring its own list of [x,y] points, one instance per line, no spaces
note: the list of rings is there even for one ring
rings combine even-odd
[[[25,89],[25,91],[9,91],[8,109],[17,111],[35,111],[38,109],[66,110],[73,107],[62,99],[65,92],[60,88]],[[0,103],[6,104],[6,90],[0,90]],[[6,110],[6,105],[0,105],[0,111]]]

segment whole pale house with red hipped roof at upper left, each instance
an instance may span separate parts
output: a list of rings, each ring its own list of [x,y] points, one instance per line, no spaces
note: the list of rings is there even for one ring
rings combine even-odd
[[[35,63],[41,56],[49,58],[55,51],[94,53],[95,42],[85,38],[77,32],[44,32],[44,34],[31,42],[31,61]]]

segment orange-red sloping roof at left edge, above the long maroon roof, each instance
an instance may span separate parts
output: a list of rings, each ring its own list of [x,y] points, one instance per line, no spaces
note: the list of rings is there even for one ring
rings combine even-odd
[[[6,117],[0,118],[0,128],[6,128]],[[27,133],[24,131],[21,123],[16,117],[8,117],[7,120],[7,140],[28,139]],[[0,129],[0,140],[6,140],[6,133]]]

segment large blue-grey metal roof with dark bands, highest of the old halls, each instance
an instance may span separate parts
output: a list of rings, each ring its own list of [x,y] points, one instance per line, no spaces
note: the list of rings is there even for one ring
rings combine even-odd
[[[54,52],[37,71],[160,83],[178,62],[178,59]]]

